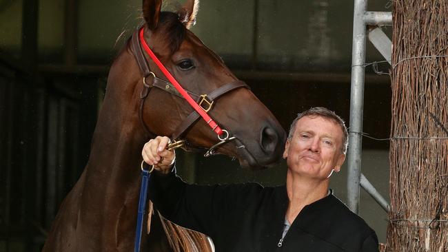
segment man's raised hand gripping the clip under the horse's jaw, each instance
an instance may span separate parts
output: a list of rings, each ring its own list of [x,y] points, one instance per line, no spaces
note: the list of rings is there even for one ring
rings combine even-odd
[[[154,169],[162,174],[169,174],[174,164],[174,150],[167,150],[170,138],[166,136],[157,136],[145,143],[141,156],[148,165],[154,165]]]

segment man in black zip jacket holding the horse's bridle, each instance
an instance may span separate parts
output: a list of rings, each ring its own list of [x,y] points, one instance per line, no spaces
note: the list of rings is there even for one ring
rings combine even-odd
[[[209,235],[223,251],[378,251],[375,232],[328,189],[347,151],[344,121],[314,107],[293,121],[283,158],[286,185],[187,185],[173,171],[169,139],[142,156],[154,165],[150,198],[168,220]]]

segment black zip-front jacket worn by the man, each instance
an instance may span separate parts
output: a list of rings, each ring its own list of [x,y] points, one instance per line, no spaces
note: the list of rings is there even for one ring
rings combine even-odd
[[[154,173],[149,190],[165,218],[210,236],[216,252],[378,251],[375,232],[332,194],[305,206],[278,246],[285,186],[187,185],[174,174]]]

